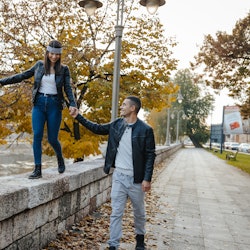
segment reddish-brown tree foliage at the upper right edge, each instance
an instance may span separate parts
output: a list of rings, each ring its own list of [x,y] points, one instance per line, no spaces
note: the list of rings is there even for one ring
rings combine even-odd
[[[216,90],[227,88],[242,103],[243,116],[250,117],[250,13],[240,19],[232,34],[218,31],[205,36],[194,68],[205,66],[206,84]]]

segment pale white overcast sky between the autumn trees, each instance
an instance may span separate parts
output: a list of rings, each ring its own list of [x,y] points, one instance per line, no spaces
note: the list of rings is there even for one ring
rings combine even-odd
[[[178,43],[173,49],[173,57],[179,60],[178,70],[189,68],[205,35],[215,37],[217,31],[230,34],[235,23],[249,11],[250,0],[166,0],[158,14],[166,36],[175,37]],[[208,118],[212,124],[222,122],[223,106],[235,104],[226,91],[215,97],[215,109]]]

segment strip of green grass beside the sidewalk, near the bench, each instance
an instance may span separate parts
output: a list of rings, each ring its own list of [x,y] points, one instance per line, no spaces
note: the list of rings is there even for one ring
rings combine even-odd
[[[210,150],[208,150],[210,151]],[[244,172],[250,174],[250,155],[249,154],[242,154],[242,153],[238,153],[237,157],[236,157],[236,161],[232,161],[232,160],[226,160],[226,154],[227,151],[223,151],[222,154],[220,153],[220,150],[218,149],[218,152],[214,152],[214,151],[210,151],[211,153],[213,153],[214,155],[216,155],[217,157],[225,160],[228,164],[239,168],[241,170],[243,170]]]

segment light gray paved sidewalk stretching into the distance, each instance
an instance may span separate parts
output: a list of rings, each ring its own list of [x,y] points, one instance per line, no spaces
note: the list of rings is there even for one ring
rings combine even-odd
[[[185,148],[162,169],[152,194],[157,220],[147,222],[148,250],[250,249],[249,174],[204,149]]]

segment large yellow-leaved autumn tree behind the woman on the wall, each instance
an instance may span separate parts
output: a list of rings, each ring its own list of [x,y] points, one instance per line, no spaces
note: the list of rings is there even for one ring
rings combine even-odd
[[[163,35],[158,18],[135,18],[138,6],[126,3],[122,43],[120,100],[138,95],[146,110],[162,108],[170,91],[169,76],[176,68],[171,48],[175,42]],[[114,26],[116,1],[106,1],[95,17],[87,17],[75,1],[7,1],[0,3],[1,77],[22,72],[43,59],[48,41],[63,43],[64,63],[70,67],[72,85],[81,112],[93,121],[110,120]],[[25,84],[24,84],[25,83]],[[30,111],[32,80],[3,88],[0,97],[0,137],[8,133],[31,133]],[[7,108],[6,108],[7,107]],[[7,130],[7,125],[12,124]],[[4,131],[4,132],[3,132]],[[60,140],[66,157],[82,158],[99,153],[99,143],[106,137],[96,136],[79,127],[63,111]],[[45,152],[51,148],[44,145]]]

